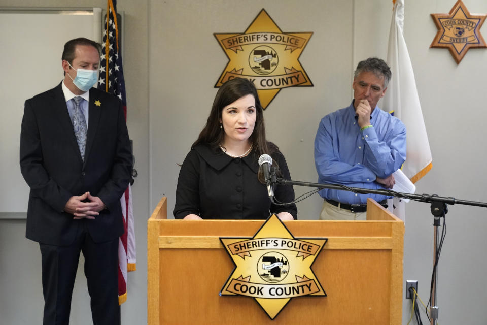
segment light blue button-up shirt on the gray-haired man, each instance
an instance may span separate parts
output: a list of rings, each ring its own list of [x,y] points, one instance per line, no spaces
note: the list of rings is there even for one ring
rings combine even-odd
[[[391,114],[375,107],[369,127],[360,130],[354,102],[326,115],[315,138],[315,165],[319,183],[384,189],[375,181],[398,170],[406,159],[406,128]],[[320,196],[345,204],[366,204],[391,198],[378,194],[322,189]]]

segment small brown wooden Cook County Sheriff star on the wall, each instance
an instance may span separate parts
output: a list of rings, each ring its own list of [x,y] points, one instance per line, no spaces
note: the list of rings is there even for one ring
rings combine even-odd
[[[448,48],[460,63],[470,48],[485,48],[480,27],[487,15],[471,14],[462,0],[458,0],[449,14],[431,14],[438,32],[430,47]]]

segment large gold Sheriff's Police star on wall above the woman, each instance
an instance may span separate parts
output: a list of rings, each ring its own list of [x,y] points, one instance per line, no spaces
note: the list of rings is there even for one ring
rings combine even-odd
[[[264,9],[243,33],[215,33],[230,60],[215,87],[235,77],[247,78],[265,109],[283,88],[312,86],[298,60],[312,34],[281,31]]]

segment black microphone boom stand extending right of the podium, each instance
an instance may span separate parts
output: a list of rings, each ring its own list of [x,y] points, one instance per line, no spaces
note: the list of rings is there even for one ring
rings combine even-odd
[[[457,200],[452,197],[439,197],[436,195],[430,194],[408,194],[408,193],[400,193],[393,190],[387,189],[367,189],[361,187],[349,187],[344,185],[338,184],[320,184],[320,183],[309,183],[309,182],[300,182],[300,181],[292,181],[284,178],[277,178],[272,176],[275,171],[271,173],[271,181],[272,186],[275,184],[277,185],[298,185],[298,186],[307,186],[307,187],[316,187],[316,188],[329,188],[329,189],[337,189],[337,190],[347,190],[358,194],[381,194],[385,196],[393,196],[396,198],[402,199],[410,199],[419,202],[426,202],[431,204],[431,214],[433,214],[433,226],[434,226],[434,239],[433,239],[433,275],[432,275],[432,284],[431,284],[431,325],[436,325],[438,320],[438,306],[437,304],[437,289],[438,289],[438,259],[439,259],[439,252],[441,246],[440,234],[438,232],[438,227],[440,226],[440,218],[444,217],[446,213],[448,213],[448,204],[464,204],[464,205],[471,205],[477,207],[484,207],[487,208],[487,203],[485,202],[475,202],[475,201],[467,201],[467,200]],[[273,181],[275,179],[275,182]],[[279,204],[279,203],[277,203]],[[444,223],[444,220],[443,220]]]

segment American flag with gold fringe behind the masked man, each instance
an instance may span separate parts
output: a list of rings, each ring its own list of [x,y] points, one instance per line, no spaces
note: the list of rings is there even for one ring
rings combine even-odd
[[[107,1],[107,13],[104,23],[105,30],[103,31],[98,89],[111,93],[122,101],[125,119],[127,119],[116,0]],[[130,184],[120,199],[120,204],[123,214],[120,217],[123,218],[125,230],[120,237],[118,248],[118,302],[122,304],[127,300],[127,272],[135,271],[135,232]]]

